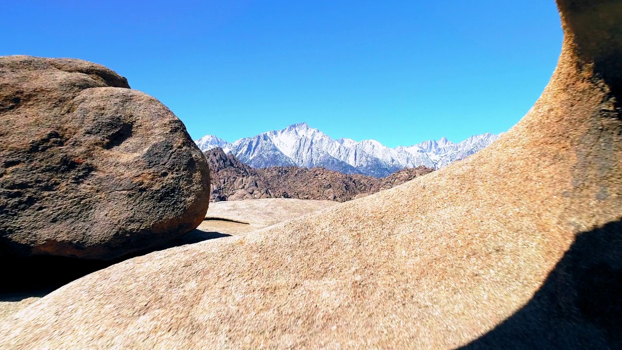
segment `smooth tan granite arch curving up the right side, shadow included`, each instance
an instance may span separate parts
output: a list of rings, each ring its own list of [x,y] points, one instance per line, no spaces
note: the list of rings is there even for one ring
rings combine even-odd
[[[559,65],[489,148],[88,275],[0,326],[0,347],[620,349],[622,2],[558,5]]]

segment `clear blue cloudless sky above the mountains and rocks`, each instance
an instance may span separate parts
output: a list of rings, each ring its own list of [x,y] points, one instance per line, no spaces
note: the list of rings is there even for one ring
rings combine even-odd
[[[553,0],[6,1],[0,32],[108,66],[195,139],[306,121],[387,146],[508,130],[562,40]]]

